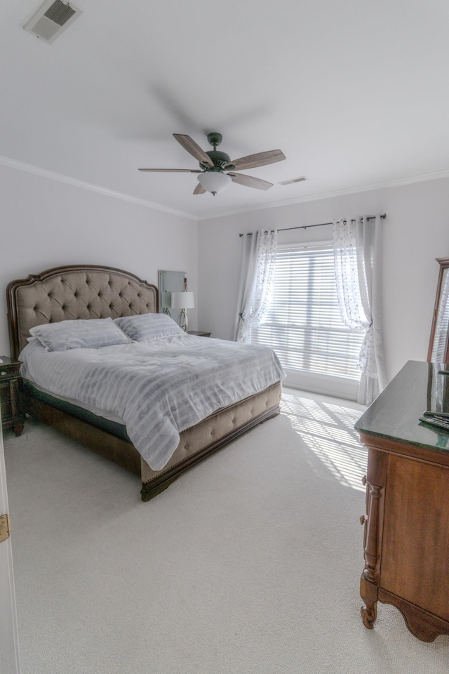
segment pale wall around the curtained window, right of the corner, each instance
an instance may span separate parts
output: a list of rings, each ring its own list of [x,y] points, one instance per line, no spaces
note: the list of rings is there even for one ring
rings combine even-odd
[[[383,220],[382,296],[389,380],[408,360],[425,360],[439,265],[449,257],[449,180],[429,180],[199,223],[199,326],[231,339],[241,261],[240,232],[327,223],[387,213]],[[279,242],[330,238],[330,227],[280,232]]]

